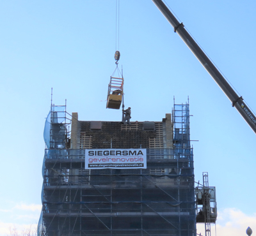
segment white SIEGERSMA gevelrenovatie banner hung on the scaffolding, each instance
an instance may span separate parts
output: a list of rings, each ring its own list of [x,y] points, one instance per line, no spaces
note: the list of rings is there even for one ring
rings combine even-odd
[[[147,149],[86,149],[86,169],[147,169]]]

